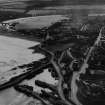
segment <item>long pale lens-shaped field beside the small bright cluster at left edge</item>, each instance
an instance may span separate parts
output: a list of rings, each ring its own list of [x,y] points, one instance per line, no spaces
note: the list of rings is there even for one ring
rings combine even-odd
[[[49,27],[52,24],[64,19],[69,19],[69,18],[63,15],[48,15],[48,16],[36,16],[36,17],[13,19],[13,20],[4,21],[3,23],[19,22],[19,24],[15,26],[16,30],[42,29],[44,27]]]

